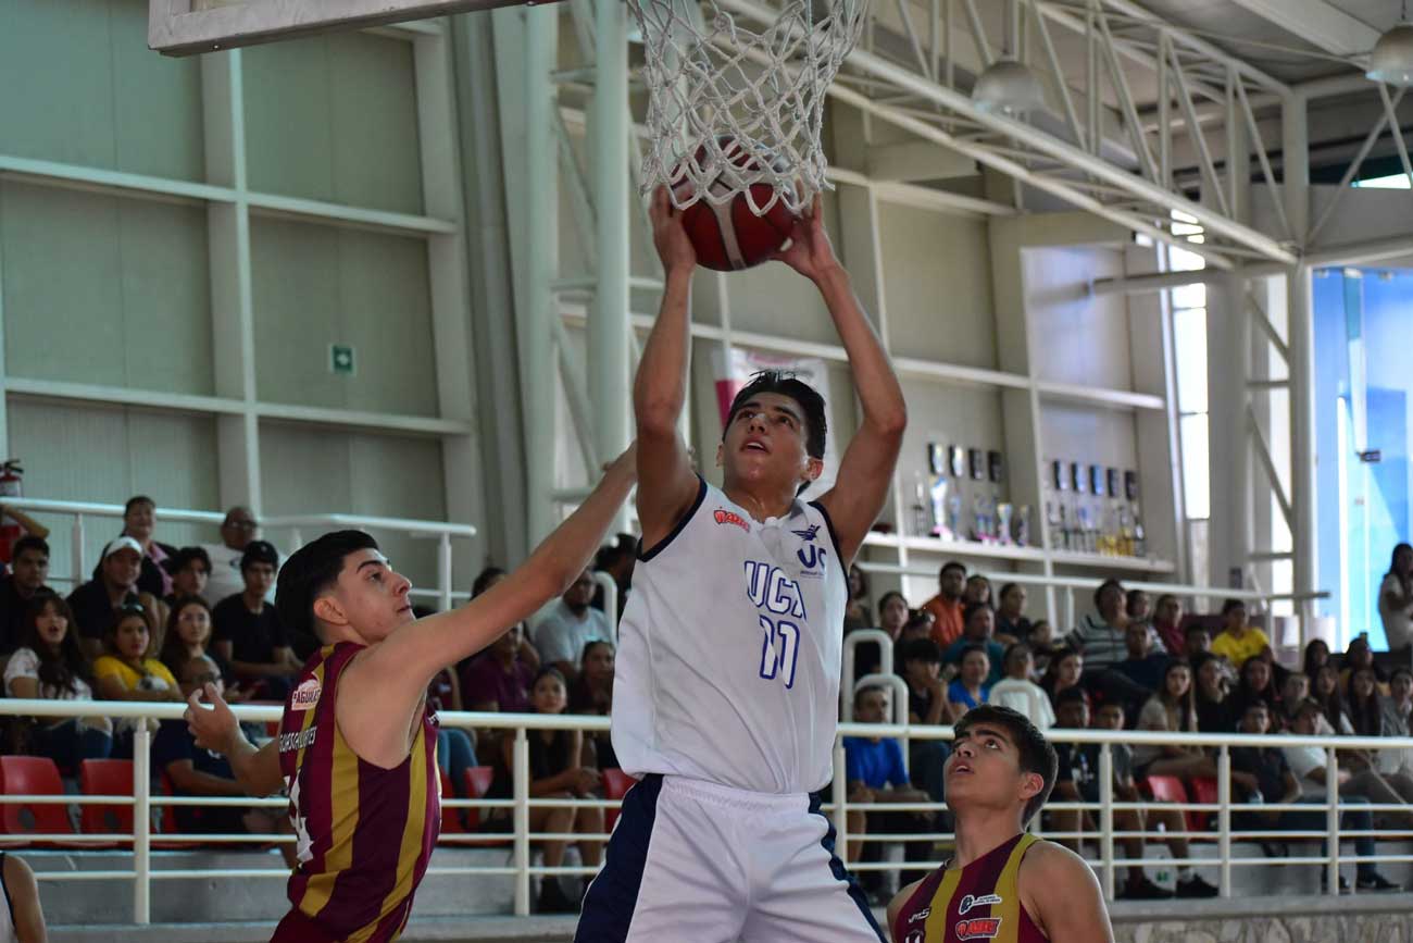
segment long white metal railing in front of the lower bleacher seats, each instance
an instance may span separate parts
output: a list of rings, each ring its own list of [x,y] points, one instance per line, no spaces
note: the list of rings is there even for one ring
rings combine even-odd
[[[0,715],[20,715],[20,717],[81,717],[105,714],[109,717],[155,717],[164,720],[179,718],[185,707],[182,704],[144,704],[133,701],[105,701],[102,704],[95,704],[92,701],[47,701],[47,700],[17,700],[17,698],[0,698]],[[281,708],[278,707],[254,707],[254,705],[237,705],[233,708],[236,715],[243,721],[271,721],[281,715]],[[581,809],[613,809],[617,807],[617,802],[605,799],[531,799],[530,797],[530,742],[528,731],[533,730],[578,730],[586,732],[599,732],[609,728],[609,720],[605,717],[579,717],[579,715],[538,715],[538,714],[471,714],[471,713],[444,713],[439,714],[442,725],[447,727],[476,727],[476,728],[493,728],[493,730],[513,730],[514,731],[514,749],[513,749],[513,795],[510,799],[444,799],[444,804],[451,809],[510,809],[514,828],[507,834],[502,833],[485,833],[485,834],[466,834],[466,836],[447,836],[445,844],[500,844],[510,841],[510,855],[506,864],[487,864],[487,865],[468,865],[468,867],[432,867],[428,869],[430,875],[510,875],[514,878],[514,912],[517,915],[524,915],[530,912],[530,879],[536,875],[545,874],[562,874],[562,875],[592,875],[596,868],[592,867],[544,867],[531,864],[531,843],[547,841],[547,840],[564,840],[564,841],[585,841],[585,840],[606,840],[606,834],[557,834],[557,833],[531,833],[528,828],[530,809],[534,807],[581,807]],[[950,727],[923,727],[923,725],[909,725],[909,724],[841,724],[834,749],[834,785],[831,802],[824,806],[824,810],[832,816],[836,837],[836,850],[841,858],[846,860],[848,845],[849,845],[849,828],[848,828],[848,813],[851,810],[856,812],[942,812],[947,809],[944,803],[849,803],[848,789],[845,783],[845,754],[842,746],[842,737],[897,737],[904,741],[916,739],[950,739],[952,730]],[[1085,810],[1089,813],[1098,813],[1099,831],[1088,833],[1087,837],[1091,840],[1098,840],[1099,854],[1096,858],[1091,858],[1091,867],[1099,874],[1105,895],[1113,898],[1115,891],[1115,874],[1118,868],[1126,868],[1130,865],[1143,865],[1142,860],[1130,860],[1115,855],[1113,843],[1116,840],[1122,841],[1125,838],[1143,837],[1147,840],[1163,841],[1166,838],[1186,837],[1198,841],[1212,841],[1217,844],[1218,855],[1217,858],[1186,858],[1173,860],[1174,865],[1197,865],[1197,867],[1212,867],[1218,869],[1219,879],[1218,888],[1222,896],[1231,896],[1232,894],[1232,868],[1235,867],[1259,867],[1259,865],[1282,865],[1282,864],[1304,864],[1304,865],[1320,865],[1325,868],[1327,872],[1327,892],[1331,895],[1338,894],[1338,868],[1341,864],[1349,862],[1407,862],[1413,861],[1413,855],[1409,854],[1382,854],[1373,857],[1358,857],[1345,855],[1340,853],[1340,840],[1349,837],[1359,837],[1371,833],[1356,833],[1344,830],[1340,826],[1340,814],[1348,810],[1364,810],[1369,813],[1379,812],[1413,812],[1413,807],[1406,804],[1378,804],[1378,803],[1341,803],[1337,796],[1327,797],[1323,803],[1300,803],[1300,804],[1259,804],[1259,806],[1243,806],[1241,803],[1232,802],[1231,790],[1231,755],[1232,746],[1320,746],[1327,755],[1327,772],[1330,779],[1337,779],[1338,771],[1338,756],[1337,749],[1410,749],[1413,748],[1413,738],[1393,738],[1393,737],[1296,737],[1296,735],[1276,735],[1276,737],[1252,737],[1245,734],[1170,734],[1170,732],[1152,732],[1152,731],[1099,731],[1099,730],[1051,730],[1047,732],[1051,741],[1057,742],[1071,742],[1071,744],[1098,744],[1099,746],[1099,802],[1095,803],[1070,803],[1070,802],[1051,802],[1046,806],[1047,810]],[[59,843],[93,843],[95,845],[113,844],[114,841],[133,844],[133,867],[130,869],[105,869],[105,871],[65,871],[65,872],[48,872],[41,871],[38,874],[41,881],[99,881],[99,879],[130,879],[133,881],[133,905],[134,905],[134,920],[137,923],[147,923],[150,920],[150,894],[151,882],[157,879],[181,879],[181,878],[287,878],[288,871],[283,868],[202,868],[201,871],[185,871],[185,869],[154,869],[153,868],[153,833],[151,833],[151,812],[154,807],[162,806],[177,806],[177,804],[202,804],[202,806],[264,806],[264,807],[285,807],[287,802],[284,799],[216,799],[216,797],[170,797],[170,796],[153,796],[151,793],[151,769],[148,766],[148,746],[150,734],[144,727],[140,727],[136,734],[134,742],[134,783],[131,796],[0,796],[0,803],[62,803],[62,804],[120,804],[133,806],[133,831],[130,834],[95,834],[95,836],[75,836],[75,834],[32,834],[24,837],[16,837],[20,841],[59,841]],[[1128,744],[1128,745],[1198,745],[1217,749],[1217,766],[1218,766],[1218,799],[1215,803],[1152,803],[1152,802],[1121,802],[1116,800],[1113,793],[1113,744]],[[904,751],[906,752],[906,751]],[[1145,830],[1140,833],[1123,831],[1116,833],[1113,828],[1113,814],[1115,812],[1123,812],[1129,809],[1173,809],[1178,812],[1208,812],[1215,813],[1218,819],[1218,828],[1212,831],[1178,831],[1178,833],[1159,833],[1152,830]],[[1325,827],[1323,830],[1260,830],[1260,831],[1234,831],[1232,830],[1232,812],[1235,810],[1263,810],[1263,812],[1311,812],[1324,810],[1325,813]],[[1184,827],[1186,828],[1186,827]],[[1378,830],[1381,838],[1399,837],[1409,838],[1413,837],[1413,831],[1399,831],[1399,830]],[[1050,838],[1077,838],[1080,833],[1047,833]],[[162,843],[175,841],[191,841],[196,844],[219,844],[219,843],[288,843],[292,841],[292,836],[252,836],[252,834],[229,834],[229,836],[158,836]],[[859,836],[862,840],[868,841],[950,841],[952,838],[948,833],[935,831],[917,831],[917,833],[903,833],[903,834],[866,834]],[[1328,845],[1323,855],[1299,855],[1299,857],[1280,857],[1280,858],[1256,858],[1256,857],[1234,857],[1232,841],[1234,840],[1327,840]],[[7,841],[8,838],[0,837],[0,841]],[[896,862],[848,862],[853,871],[883,871],[896,869],[899,865]],[[931,862],[907,862],[909,868],[926,868],[937,867],[940,861]],[[1147,862],[1152,864],[1152,862]]]

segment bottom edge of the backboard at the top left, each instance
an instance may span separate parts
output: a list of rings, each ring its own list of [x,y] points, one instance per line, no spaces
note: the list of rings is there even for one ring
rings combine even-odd
[[[165,55],[191,55],[519,1],[521,0],[148,0],[147,45]]]

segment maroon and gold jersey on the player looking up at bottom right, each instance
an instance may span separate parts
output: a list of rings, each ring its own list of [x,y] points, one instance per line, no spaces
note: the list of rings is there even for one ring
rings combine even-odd
[[[1044,943],[1020,903],[1020,860],[1037,841],[1019,834],[965,868],[933,871],[890,927],[894,943]]]

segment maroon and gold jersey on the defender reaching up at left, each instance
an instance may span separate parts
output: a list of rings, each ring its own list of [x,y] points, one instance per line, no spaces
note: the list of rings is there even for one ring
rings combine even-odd
[[[413,909],[441,827],[437,725],[422,708],[411,754],[393,769],[359,759],[339,732],[339,676],[363,650],[341,642],[304,664],[280,724],[280,771],[290,790],[298,867],[285,919],[333,940],[394,940]],[[281,930],[285,926],[281,923]],[[284,939],[280,930],[276,939]],[[291,937],[294,939],[294,937]]]

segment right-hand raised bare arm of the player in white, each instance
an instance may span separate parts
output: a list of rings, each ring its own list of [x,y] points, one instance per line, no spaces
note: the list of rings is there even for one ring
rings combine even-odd
[[[853,295],[849,274],[834,254],[820,209],[815,197],[810,212],[796,222],[790,245],[776,257],[814,281],[824,295],[863,404],[863,421],[844,452],[835,485],[820,499],[834,523],[844,554],[841,563],[848,566],[887,498],[903,445],[907,406],[883,345]]]

